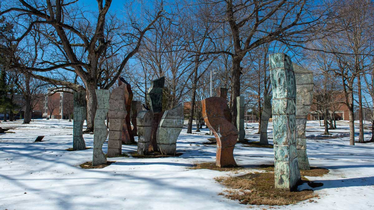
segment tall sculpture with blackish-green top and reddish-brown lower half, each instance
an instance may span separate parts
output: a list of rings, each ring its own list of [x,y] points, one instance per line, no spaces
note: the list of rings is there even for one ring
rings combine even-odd
[[[151,81],[151,87],[148,89],[147,99],[149,107],[153,111],[152,130],[149,148],[151,151],[156,152],[157,148],[157,129],[161,121],[162,112],[162,94],[165,84],[165,77],[160,77]]]

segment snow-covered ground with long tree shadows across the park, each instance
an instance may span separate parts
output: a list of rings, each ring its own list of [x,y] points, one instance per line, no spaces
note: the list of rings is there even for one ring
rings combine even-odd
[[[194,134],[182,130],[177,152],[180,157],[138,159],[108,158],[116,161],[104,169],[81,169],[79,164],[92,160],[92,148],[65,151],[72,147],[73,123],[66,120],[35,120],[29,125],[2,122],[0,127],[14,127],[0,135],[0,209],[263,209],[224,198],[217,176],[240,173],[190,170],[197,162],[214,162],[215,145],[203,145],[208,129]],[[187,123],[185,123],[187,124]],[[205,127],[205,126],[204,126]],[[324,139],[319,121],[307,123],[307,153],[311,166],[325,167],[323,177],[307,177],[324,183],[314,188],[320,199],[300,202],[278,209],[374,209],[374,144],[349,145],[349,125],[337,122],[331,130],[336,137]],[[193,129],[196,130],[196,129]],[[258,140],[257,123],[248,123],[246,138]],[[272,138],[272,124],[269,124]],[[358,132],[358,130],[356,131]],[[34,139],[44,135],[43,142]],[[358,133],[356,133],[358,138]],[[365,140],[371,133],[365,130]],[[318,137],[318,138],[315,138]],[[92,147],[93,135],[84,135]],[[356,139],[358,140],[358,139]],[[272,143],[272,139],[270,139]],[[107,143],[103,147],[107,151]],[[123,152],[134,152],[136,145],[123,145]],[[273,164],[271,148],[234,149],[237,164],[249,167]]]

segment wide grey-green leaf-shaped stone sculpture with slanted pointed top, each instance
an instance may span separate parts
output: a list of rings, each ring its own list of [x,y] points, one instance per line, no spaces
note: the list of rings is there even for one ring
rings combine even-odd
[[[183,105],[164,112],[157,130],[157,146],[163,155],[175,155],[177,139],[184,123]]]

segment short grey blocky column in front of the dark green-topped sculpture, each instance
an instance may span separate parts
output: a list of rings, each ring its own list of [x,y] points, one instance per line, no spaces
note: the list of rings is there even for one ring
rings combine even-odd
[[[138,155],[147,155],[149,139],[151,137],[153,112],[150,110],[140,111],[137,115],[138,126]]]

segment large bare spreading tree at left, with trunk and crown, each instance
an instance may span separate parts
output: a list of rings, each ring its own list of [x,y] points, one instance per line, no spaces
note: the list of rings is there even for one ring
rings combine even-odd
[[[97,105],[95,89],[101,82],[98,78],[102,78],[102,74],[107,74],[106,71],[99,70],[99,62],[105,60],[102,58],[122,57],[120,65],[114,69],[113,74],[107,75],[110,79],[104,89],[108,89],[116,82],[128,60],[138,52],[145,33],[162,16],[162,10],[156,12],[154,16],[148,14],[144,18],[144,22],[146,22],[144,25],[129,17],[131,27],[125,27],[124,24],[109,24],[111,21],[115,21],[106,18],[111,0],[105,2],[97,0],[98,12],[95,15],[82,11],[76,2],[65,3],[57,0],[52,3],[50,0],[46,0],[29,4],[24,0],[19,0],[19,5],[6,8],[0,12],[0,15],[16,17],[14,22],[19,29],[18,34],[21,34],[14,40],[16,46],[21,46],[25,37],[30,35],[30,31],[35,28],[34,26],[39,26],[37,33],[48,43],[42,50],[43,56],[38,58],[39,65],[36,67],[25,66],[24,62],[19,62],[18,59],[22,56],[15,55],[13,68],[27,70],[24,72],[25,74],[51,84],[76,91],[85,91],[87,115],[89,116],[86,132],[90,132],[93,131],[93,119]],[[110,33],[117,34],[116,38],[106,39]],[[107,50],[110,47],[116,48],[114,55],[110,50]],[[108,54],[103,56],[105,53]],[[53,74],[42,75],[30,72],[52,73],[58,70],[73,72],[83,84],[58,80],[52,76]]]

